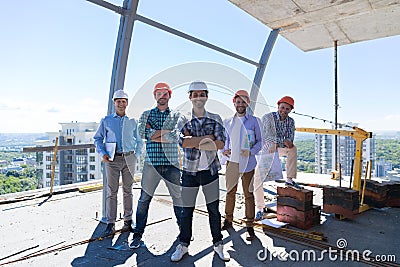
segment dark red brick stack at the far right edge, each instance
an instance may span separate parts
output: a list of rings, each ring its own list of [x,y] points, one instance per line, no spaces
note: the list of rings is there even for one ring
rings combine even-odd
[[[361,181],[361,188],[364,181]],[[376,207],[400,207],[400,183],[367,180],[365,185],[364,203]]]

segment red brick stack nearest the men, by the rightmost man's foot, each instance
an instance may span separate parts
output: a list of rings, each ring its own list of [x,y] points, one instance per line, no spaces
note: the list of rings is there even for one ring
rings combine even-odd
[[[313,191],[278,187],[277,219],[300,229],[320,224],[321,207],[313,205]]]

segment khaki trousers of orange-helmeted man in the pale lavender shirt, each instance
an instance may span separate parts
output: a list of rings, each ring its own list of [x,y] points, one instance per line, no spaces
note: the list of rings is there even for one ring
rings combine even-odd
[[[226,200],[225,200],[225,220],[233,221],[233,211],[235,209],[236,191],[239,177],[242,177],[242,187],[245,197],[245,221],[246,227],[252,227],[254,222],[254,195],[253,195],[253,175],[254,170],[239,173],[239,163],[226,163]]]

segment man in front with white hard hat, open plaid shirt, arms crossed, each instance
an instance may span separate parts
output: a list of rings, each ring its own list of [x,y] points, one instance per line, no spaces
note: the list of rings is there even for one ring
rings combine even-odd
[[[219,212],[219,177],[221,164],[217,150],[224,147],[225,130],[221,117],[204,108],[208,99],[208,88],[204,82],[195,81],[189,86],[192,113],[178,121],[179,144],[183,148],[182,200],[183,210],[179,234],[179,245],[171,261],[180,261],[188,252],[192,236],[193,211],[199,187],[202,186],[207,201],[207,211],[214,251],[223,261],[229,261],[224,252]]]

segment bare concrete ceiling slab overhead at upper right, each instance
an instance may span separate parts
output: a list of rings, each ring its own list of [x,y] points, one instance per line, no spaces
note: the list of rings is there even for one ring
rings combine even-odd
[[[400,0],[229,0],[303,51],[400,34]]]

